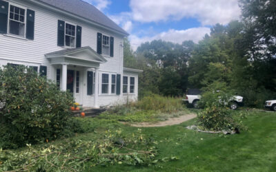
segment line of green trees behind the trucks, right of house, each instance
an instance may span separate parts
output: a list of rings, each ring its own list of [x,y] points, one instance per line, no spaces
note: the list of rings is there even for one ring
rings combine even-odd
[[[155,40],[133,52],[124,41],[124,65],[143,69],[139,97],[183,96],[214,82],[244,96],[250,107],[276,98],[276,1],[240,0],[242,20],[217,23],[199,43]]]

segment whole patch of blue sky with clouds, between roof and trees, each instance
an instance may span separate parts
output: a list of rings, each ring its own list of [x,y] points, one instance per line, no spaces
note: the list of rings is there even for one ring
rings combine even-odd
[[[239,19],[238,0],[83,0],[124,28],[132,49],[146,41],[200,41],[215,23]]]

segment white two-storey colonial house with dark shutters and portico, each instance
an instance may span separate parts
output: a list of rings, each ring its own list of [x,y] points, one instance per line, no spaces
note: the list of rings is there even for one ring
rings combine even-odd
[[[0,0],[0,65],[28,65],[83,107],[136,100],[124,68],[128,33],[81,0]]]

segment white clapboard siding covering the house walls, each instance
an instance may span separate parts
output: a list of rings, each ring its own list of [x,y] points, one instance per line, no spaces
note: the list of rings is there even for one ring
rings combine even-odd
[[[57,66],[50,65],[44,54],[64,50],[63,47],[57,46],[57,21],[63,20],[82,28],[81,46],[90,46],[97,51],[97,32],[114,37],[114,57],[103,56],[107,62],[102,63],[99,67],[99,98],[97,104],[115,105],[126,101],[126,97],[131,100],[137,100],[138,95],[138,76],[137,74],[127,74],[135,77],[135,94],[122,94],[123,67],[124,67],[124,36],[99,28],[90,23],[79,21],[75,18],[66,16],[46,8],[41,8],[32,4],[30,1],[13,0],[12,2],[34,10],[34,40],[20,39],[6,34],[0,34],[0,65],[7,63],[17,63],[22,65],[46,65],[47,76],[51,80],[56,78]],[[83,67],[81,88],[83,89],[82,104],[86,107],[94,106],[94,96],[87,96],[87,79],[86,72],[88,68]],[[61,69],[62,71],[62,69]],[[101,74],[121,74],[121,95],[101,95]],[[110,80],[111,82],[111,80]],[[129,88],[128,88],[129,89]]]

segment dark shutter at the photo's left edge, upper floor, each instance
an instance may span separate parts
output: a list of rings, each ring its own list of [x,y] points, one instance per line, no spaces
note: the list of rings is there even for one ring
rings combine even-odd
[[[0,33],[8,31],[8,2],[0,0]]]

